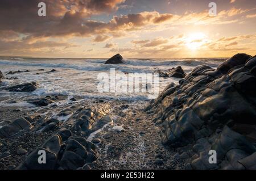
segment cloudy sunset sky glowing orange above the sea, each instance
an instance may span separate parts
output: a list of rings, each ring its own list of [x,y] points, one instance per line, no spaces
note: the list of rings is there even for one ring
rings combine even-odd
[[[46,16],[39,16],[39,2]],[[217,14],[209,14],[209,3]],[[0,56],[255,55],[256,0],[1,0]]]

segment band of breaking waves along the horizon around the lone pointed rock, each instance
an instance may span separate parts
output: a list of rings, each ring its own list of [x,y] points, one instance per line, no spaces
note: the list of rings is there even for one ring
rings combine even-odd
[[[63,69],[75,69],[85,71],[109,71],[111,68],[115,68],[120,71],[127,72],[152,72],[154,69],[170,69],[176,66],[198,66],[207,64],[212,67],[216,67],[220,64],[220,61],[213,60],[123,60],[124,64],[104,64],[105,60],[73,60],[67,63],[64,60],[52,60],[46,61],[10,61],[0,60],[0,65],[13,65],[13,66],[34,66],[43,68],[63,68]]]

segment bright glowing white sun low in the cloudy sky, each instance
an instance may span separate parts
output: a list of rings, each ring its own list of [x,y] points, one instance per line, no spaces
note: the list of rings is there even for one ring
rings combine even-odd
[[[207,36],[202,32],[196,32],[188,35],[185,41],[189,49],[196,50],[199,49],[201,45],[207,42]]]

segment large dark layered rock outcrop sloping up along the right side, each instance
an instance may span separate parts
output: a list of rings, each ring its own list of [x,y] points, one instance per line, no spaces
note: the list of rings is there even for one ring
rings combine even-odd
[[[146,108],[162,143],[188,154],[187,168],[256,169],[255,69],[255,56],[247,54],[217,70],[197,66]],[[217,151],[217,164],[209,163],[209,150]]]

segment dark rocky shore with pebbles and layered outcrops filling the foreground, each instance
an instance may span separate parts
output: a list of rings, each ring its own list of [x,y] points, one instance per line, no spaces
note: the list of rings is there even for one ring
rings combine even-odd
[[[232,114],[221,117],[228,110],[226,108],[221,111],[223,108],[221,106],[233,106],[232,111],[238,112],[235,115],[243,113],[250,119],[255,116],[255,84],[253,86],[255,60],[255,57],[243,54],[238,58],[230,58],[218,66],[218,69],[199,65],[184,79],[180,79],[179,85],[171,83],[166,86],[155,100],[140,102],[82,97],[70,99],[65,95],[41,95],[34,96],[28,101],[35,107],[5,106],[0,112],[1,125],[2,128],[9,125],[10,131],[14,134],[9,135],[10,132],[5,132],[10,136],[6,137],[3,129],[0,128],[2,137],[0,138],[0,155],[2,156],[0,169],[243,169],[243,167],[251,169],[254,167],[251,161],[244,161],[246,157],[255,159],[255,147],[254,143],[251,144],[251,140],[247,144],[248,148],[245,146],[238,148],[245,153],[237,151],[237,146],[232,148],[232,153],[228,153],[230,148],[227,148],[228,151],[224,151],[224,156],[218,158],[217,166],[207,165],[208,159],[201,152],[207,154],[209,149],[219,148],[218,145],[214,146],[214,142],[218,142],[218,137],[224,137],[225,140],[225,135],[221,133],[225,134],[230,128],[233,129],[234,125],[236,129],[233,132],[243,128],[236,124],[236,122],[239,123],[238,120],[230,124],[229,120],[234,119]],[[230,80],[232,75],[234,80]],[[239,96],[238,100],[243,100],[240,107],[237,107],[237,103],[230,102],[232,96],[222,96],[223,92],[228,91],[228,93],[232,92],[232,95],[236,94],[238,98],[236,90],[226,89],[230,86],[241,89],[238,93],[248,96],[246,99]],[[219,90],[216,90],[216,87]],[[210,91],[211,88],[215,92]],[[205,98],[200,98],[200,92],[203,91],[205,91],[203,94]],[[222,101],[224,103],[220,105],[214,103],[215,107],[201,106],[207,100],[214,100],[214,95],[217,95],[218,103]],[[11,98],[1,97],[1,101],[4,99]],[[68,102],[63,102],[67,99],[69,99]],[[192,105],[194,101],[192,99],[195,99],[195,104],[200,102],[196,104],[198,106],[196,115],[195,113],[189,115],[187,114],[189,110],[185,111]],[[247,101],[248,99],[250,101]],[[213,107],[212,110],[210,107]],[[249,111],[243,112],[249,107]],[[203,110],[203,113],[200,110]],[[20,120],[22,117],[24,119]],[[19,118],[19,122],[16,118]],[[214,122],[214,126],[209,124],[208,127],[208,120],[217,121],[217,126]],[[14,122],[19,125],[18,131],[14,129],[12,124]],[[171,125],[172,123],[174,125]],[[196,129],[189,127],[190,123]],[[255,125],[250,120],[243,124]],[[254,131],[247,127],[244,129],[246,134],[250,131],[251,137],[254,138]],[[200,136],[195,133],[197,131],[200,132]],[[237,133],[234,134],[237,136]],[[247,143],[248,136],[240,131],[238,134],[240,134],[237,136],[238,141],[235,136],[231,143],[238,143],[239,146],[239,139],[246,140]],[[195,137],[196,140],[190,139]],[[214,137],[214,141],[206,144],[205,137],[207,139]],[[203,141],[198,142],[202,138],[204,138]],[[198,148],[195,148],[196,145]],[[25,149],[27,153],[17,155],[19,149]],[[35,163],[32,158],[35,158],[37,154],[35,151],[38,149],[46,150],[51,154],[49,161],[54,164],[42,168]],[[232,157],[233,155],[235,157]],[[77,162],[73,162],[72,159]],[[226,159],[228,162],[220,164]],[[239,162],[240,159],[243,164]],[[249,166],[245,166],[245,163]]]

